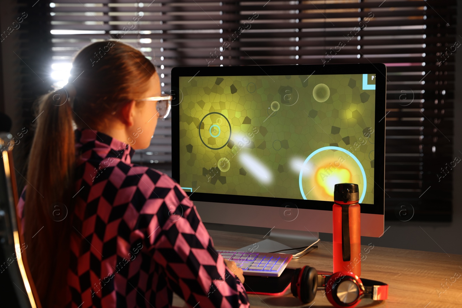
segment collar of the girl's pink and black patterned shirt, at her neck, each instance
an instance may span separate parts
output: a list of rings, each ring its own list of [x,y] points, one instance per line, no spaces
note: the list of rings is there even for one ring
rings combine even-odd
[[[135,150],[125,142],[90,128],[76,129],[74,134],[76,150],[84,160],[116,157],[131,163]]]

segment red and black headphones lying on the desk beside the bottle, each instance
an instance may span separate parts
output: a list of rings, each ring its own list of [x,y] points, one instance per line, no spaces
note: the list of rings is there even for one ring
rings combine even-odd
[[[353,272],[318,273],[314,267],[297,268],[291,282],[292,295],[303,303],[312,302],[317,290],[325,289],[328,301],[336,308],[353,308],[362,298],[386,300],[388,284],[360,279]]]

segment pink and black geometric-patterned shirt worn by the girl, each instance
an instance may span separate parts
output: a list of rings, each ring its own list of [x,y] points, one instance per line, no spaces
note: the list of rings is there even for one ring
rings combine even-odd
[[[131,163],[134,149],[104,133],[78,129],[75,138],[67,307],[165,308],[173,292],[196,308],[249,306],[243,284],[174,180]]]

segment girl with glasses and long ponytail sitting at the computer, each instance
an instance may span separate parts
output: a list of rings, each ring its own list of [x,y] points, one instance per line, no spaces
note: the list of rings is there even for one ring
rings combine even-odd
[[[248,307],[195,206],[167,175],[131,163],[171,97],[137,49],[95,42],[69,83],[40,98],[18,212],[42,306]]]

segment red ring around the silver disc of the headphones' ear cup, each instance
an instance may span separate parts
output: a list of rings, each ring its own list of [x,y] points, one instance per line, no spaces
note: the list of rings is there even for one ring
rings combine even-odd
[[[328,279],[326,283],[327,299],[335,308],[354,308],[359,304],[359,302],[361,302],[363,290],[361,290],[359,287],[358,297],[353,302],[342,302],[337,296],[337,287],[346,280],[350,281],[352,284],[362,285],[361,279],[359,279],[359,277],[356,276],[353,272],[336,272]]]

